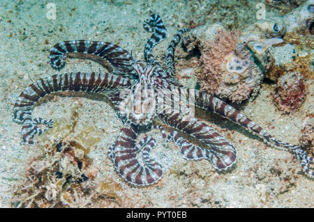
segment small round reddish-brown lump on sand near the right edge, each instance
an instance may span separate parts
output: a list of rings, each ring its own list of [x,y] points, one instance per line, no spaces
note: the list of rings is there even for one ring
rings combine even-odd
[[[290,113],[299,108],[306,98],[306,88],[299,72],[288,72],[278,79],[274,102],[279,110]]]

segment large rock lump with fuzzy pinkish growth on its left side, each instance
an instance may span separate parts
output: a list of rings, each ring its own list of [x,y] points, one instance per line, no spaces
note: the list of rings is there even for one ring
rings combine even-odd
[[[260,89],[263,79],[251,52],[237,44],[239,33],[218,30],[214,40],[202,44],[200,68],[196,75],[201,90],[221,99],[240,103]]]

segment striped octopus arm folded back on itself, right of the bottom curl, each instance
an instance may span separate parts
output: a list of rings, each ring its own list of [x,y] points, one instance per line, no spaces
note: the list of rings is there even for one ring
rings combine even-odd
[[[227,170],[236,161],[237,152],[234,146],[209,125],[197,120],[197,118],[191,117],[189,120],[184,120],[184,115],[175,111],[172,113],[160,113],[158,118],[166,125],[186,132],[207,145],[207,149],[197,147],[181,138],[177,132],[172,132],[168,138],[173,138],[174,142],[181,148],[181,153],[184,154],[186,159],[209,159],[214,168],[219,171]]]

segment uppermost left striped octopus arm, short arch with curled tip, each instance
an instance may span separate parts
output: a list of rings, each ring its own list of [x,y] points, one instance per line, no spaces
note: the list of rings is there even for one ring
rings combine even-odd
[[[134,59],[126,51],[110,42],[95,42],[90,40],[72,40],[59,42],[50,49],[50,64],[53,68],[61,68],[69,53],[83,53],[99,56],[113,67],[113,74],[128,79],[137,79],[133,68]]]

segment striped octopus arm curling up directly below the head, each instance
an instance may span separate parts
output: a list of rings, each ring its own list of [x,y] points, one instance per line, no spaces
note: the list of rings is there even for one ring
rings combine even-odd
[[[149,157],[149,152],[156,145],[154,138],[144,137],[138,145],[135,145],[137,130],[135,125],[127,122],[114,145],[109,148],[108,156],[114,162],[117,172],[130,184],[149,186],[160,180],[163,168]],[[142,154],[142,164],[137,159],[139,153]]]

